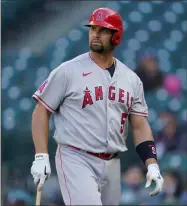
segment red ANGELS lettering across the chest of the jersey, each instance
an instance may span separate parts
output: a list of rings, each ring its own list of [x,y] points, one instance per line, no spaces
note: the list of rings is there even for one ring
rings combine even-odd
[[[87,105],[92,105],[94,101],[103,100],[103,87],[97,86],[94,88],[94,90],[94,92],[91,92],[91,90],[88,89],[88,87],[86,87],[86,89],[84,90],[82,108],[85,108]],[[114,86],[110,86],[108,89],[108,99],[112,101],[117,101],[119,103],[123,103],[127,106],[128,111],[131,110],[133,97],[130,96],[129,92],[125,92],[124,89],[116,89]]]

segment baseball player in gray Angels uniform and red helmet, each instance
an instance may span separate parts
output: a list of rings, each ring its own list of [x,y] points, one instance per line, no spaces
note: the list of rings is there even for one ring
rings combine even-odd
[[[119,152],[127,150],[128,123],[136,151],[147,167],[147,182],[162,190],[148,108],[138,76],[113,56],[122,40],[123,22],[116,11],[96,9],[89,20],[90,52],[54,69],[33,98],[35,160],[31,173],[42,189],[51,173],[48,154],[50,115],[58,144],[56,169],[66,205],[118,205]]]

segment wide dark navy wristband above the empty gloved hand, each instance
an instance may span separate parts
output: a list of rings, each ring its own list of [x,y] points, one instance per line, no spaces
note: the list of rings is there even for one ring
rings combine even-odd
[[[140,156],[140,159],[145,164],[145,161],[149,158],[157,160],[156,147],[154,141],[145,141],[136,146],[136,152]]]

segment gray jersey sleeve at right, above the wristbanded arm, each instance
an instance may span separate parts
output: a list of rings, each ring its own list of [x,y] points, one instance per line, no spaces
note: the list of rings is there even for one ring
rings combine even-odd
[[[148,116],[148,107],[144,97],[143,83],[139,78],[135,93],[136,95],[132,103],[130,114]]]

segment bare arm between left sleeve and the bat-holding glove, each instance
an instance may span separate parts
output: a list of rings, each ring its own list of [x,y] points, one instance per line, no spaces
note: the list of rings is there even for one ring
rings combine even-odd
[[[38,104],[32,115],[32,137],[36,153],[48,153],[50,113]]]

